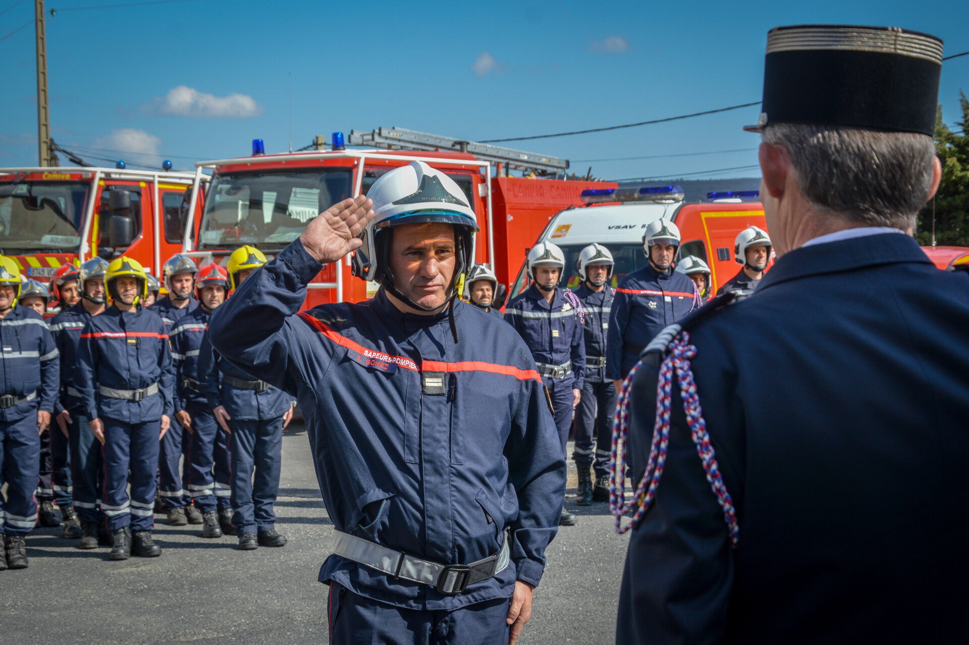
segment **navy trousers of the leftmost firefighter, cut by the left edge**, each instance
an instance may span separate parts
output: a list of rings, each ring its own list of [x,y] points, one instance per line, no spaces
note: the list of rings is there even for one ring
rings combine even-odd
[[[37,477],[41,465],[41,437],[37,408],[17,421],[0,422],[0,524],[7,535],[26,535],[37,523]]]

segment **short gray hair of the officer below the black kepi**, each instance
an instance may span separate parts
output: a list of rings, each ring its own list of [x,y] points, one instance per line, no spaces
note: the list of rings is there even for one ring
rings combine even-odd
[[[926,135],[777,123],[764,142],[791,155],[812,205],[865,226],[915,226],[932,183],[935,145]]]

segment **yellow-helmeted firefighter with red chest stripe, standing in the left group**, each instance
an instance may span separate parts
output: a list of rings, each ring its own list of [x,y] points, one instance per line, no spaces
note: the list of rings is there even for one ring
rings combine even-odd
[[[141,306],[147,287],[136,260],[111,261],[105,290],[112,304],[87,321],[78,346],[78,391],[103,446],[110,560],[162,553],[151,530],[159,440],[173,413],[172,353],[161,316]]]

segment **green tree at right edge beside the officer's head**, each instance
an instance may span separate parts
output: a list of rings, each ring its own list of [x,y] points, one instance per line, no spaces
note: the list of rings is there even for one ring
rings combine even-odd
[[[942,183],[935,196],[935,243],[969,246],[969,100],[959,92],[962,120],[958,132],[942,122],[942,106],[935,117],[935,149],[942,161]],[[932,243],[932,202],[919,213],[918,235],[923,246]]]

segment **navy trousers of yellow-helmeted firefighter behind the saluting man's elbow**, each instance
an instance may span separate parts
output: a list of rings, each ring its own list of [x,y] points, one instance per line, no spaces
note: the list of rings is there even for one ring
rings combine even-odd
[[[272,505],[279,491],[283,417],[265,421],[233,419],[229,427],[233,430],[230,450],[235,532],[241,535],[268,531],[276,523]]]

